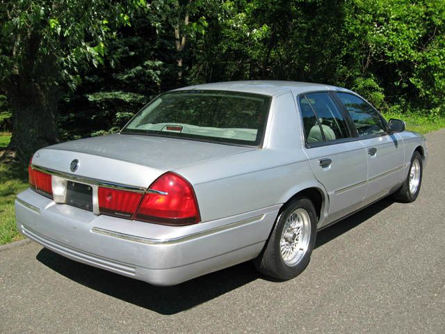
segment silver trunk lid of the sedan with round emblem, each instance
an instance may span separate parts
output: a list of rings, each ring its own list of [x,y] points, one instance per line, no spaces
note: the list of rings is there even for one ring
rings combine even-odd
[[[254,149],[159,136],[115,134],[38,150],[33,165],[76,177],[147,189],[168,170]],[[75,159],[79,161],[78,166],[71,170]]]

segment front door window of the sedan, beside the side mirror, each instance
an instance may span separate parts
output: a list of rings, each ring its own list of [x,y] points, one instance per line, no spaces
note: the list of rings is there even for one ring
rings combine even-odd
[[[359,136],[385,132],[382,117],[375,109],[360,97],[348,93],[335,93],[353,119]]]

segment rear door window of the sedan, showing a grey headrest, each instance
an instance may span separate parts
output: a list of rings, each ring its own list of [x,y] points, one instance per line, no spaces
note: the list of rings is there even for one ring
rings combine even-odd
[[[312,132],[323,133],[325,141],[348,138],[348,127],[341,111],[327,93],[312,93],[305,95],[309,105],[312,107],[319,123],[318,129],[309,130],[308,138]]]

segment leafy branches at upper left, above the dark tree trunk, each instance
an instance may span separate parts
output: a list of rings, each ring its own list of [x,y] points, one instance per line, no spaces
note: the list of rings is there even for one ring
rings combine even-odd
[[[15,74],[33,70],[29,65],[55,65],[58,75],[51,79],[58,81],[60,76],[75,88],[76,74],[87,65],[84,61],[94,66],[104,62],[110,26],[129,21],[124,10],[124,3],[110,6],[105,0],[2,1],[1,81],[13,81]]]

